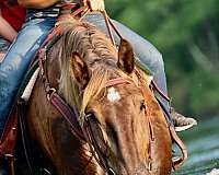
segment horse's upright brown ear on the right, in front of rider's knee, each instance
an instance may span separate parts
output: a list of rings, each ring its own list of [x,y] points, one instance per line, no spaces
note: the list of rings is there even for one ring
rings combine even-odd
[[[127,40],[120,39],[120,46],[118,48],[118,68],[130,74],[134,71],[134,61],[131,45]]]

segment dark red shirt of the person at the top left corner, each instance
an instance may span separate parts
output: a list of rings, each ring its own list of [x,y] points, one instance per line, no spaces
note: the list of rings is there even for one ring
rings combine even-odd
[[[25,21],[25,9],[18,4],[16,0],[0,0],[1,15],[11,26],[20,31]]]

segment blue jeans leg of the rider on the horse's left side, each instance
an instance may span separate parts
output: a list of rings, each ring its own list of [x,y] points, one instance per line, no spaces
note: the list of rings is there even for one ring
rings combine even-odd
[[[55,18],[27,21],[0,63],[0,132],[28,65],[55,22]]]

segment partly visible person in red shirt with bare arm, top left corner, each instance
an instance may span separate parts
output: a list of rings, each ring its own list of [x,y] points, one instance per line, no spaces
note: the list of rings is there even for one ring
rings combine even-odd
[[[0,61],[21,30],[25,9],[14,1],[0,1]]]

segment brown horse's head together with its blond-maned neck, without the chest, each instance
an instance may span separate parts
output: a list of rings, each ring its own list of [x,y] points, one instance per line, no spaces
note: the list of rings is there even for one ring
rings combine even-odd
[[[59,93],[70,105],[77,105],[81,122],[84,116],[89,118],[101,161],[119,175],[157,171],[171,156],[170,135],[146,74],[135,67],[130,44],[122,39],[117,51],[90,24],[67,21],[60,27]],[[153,141],[154,135],[161,138]],[[161,147],[168,150],[166,155],[166,150],[162,156],[157,153]]]

